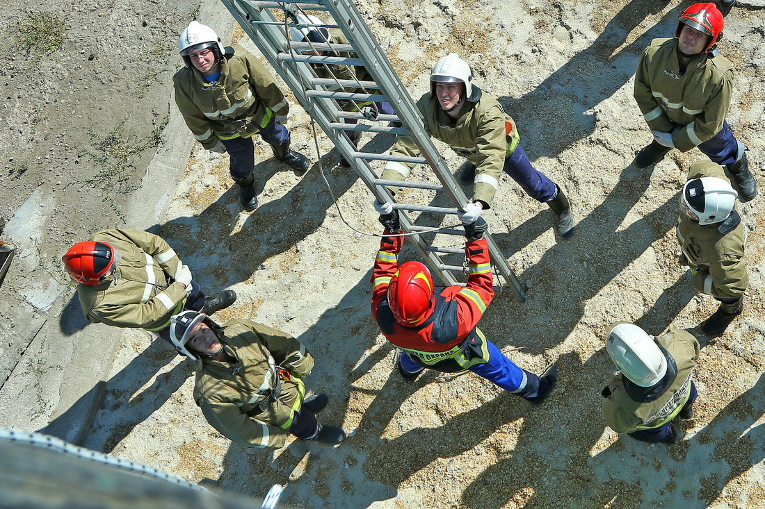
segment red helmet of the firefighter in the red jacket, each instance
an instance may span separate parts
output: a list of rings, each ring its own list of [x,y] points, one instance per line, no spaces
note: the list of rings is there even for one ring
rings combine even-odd
[[[407,261],[393,274],[388,286],[388,304],[396,322],[418,326],[433,313],[433,278],[428,267]]]

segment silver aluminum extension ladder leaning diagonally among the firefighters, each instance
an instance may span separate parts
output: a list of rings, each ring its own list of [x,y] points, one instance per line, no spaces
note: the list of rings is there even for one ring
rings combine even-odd
[[[228,8],[245,33],[259,47],[269,63],[282,76],[298,102],[309,115],[321,126],[324,133],[334,142],[340,154],[350,162],[356,173],[372,190],[376,199],[393,204],[399,210],[404,232],[411,232],[409,239],[444,284],[460,284],[452,273],[464,273],[463,266],[445,264],[440,254],[464,254],[463,249],[438,248],[428,245],[420,232],[430,232],[431,228],[415,225],[406,211],[435,212],[456,214],[457,210],[467,205],[467,198],[454,180],[451,171],[444,163],[429,135],[425,132],[422,115],[401,83],[398,74],[390,65],[385,53],[377,44],[372,31],[366,25],[356,6],[350,0],[300,0],[300,2],[268,2],[260,0],[221,0]],[[312,24],[303,18],[297,21],[297,15],[308,16],[311,12],[321,11],[324,24]],[[277,18],[277,15],[279,18]],[[292,20],[298,28],[339,28],[350,44],[312,43],[290,41],[285,20]],[[302,51],[322,51],[322,55],[302,54]],[[337,56],[340,53],[355,54],[356,58]],[[336,56],[327,56],[327,53]],[[374,81],[317,77],[313,65],[364,66]],[[338,92],[337,88],[371,90],[378,93]],[[381,92],[381,93],[380,93]],[[396,115],[365,115],[362,112],[344,112],[337,101],[389,102]],[[368,110],[367,110],[368,111]],[[346,124],[343,118],[355,118],[398,122],[402,127],[370,125],[363,123]],[[422,153],[422,157],[399,157],[389,154],[374,154],[357,151],[343,131],[362,131],[383,133],[386,135],[409,135]],[[392,182],[381,180],[369,166],[370,160],[395,160],[402,163],[428,164],[435,172],[441,184]],[[444,190],[451,196],[455,208],[438,206],[419,206],[397,203],[386,189],[386,185],[418,188],[423,190]],[[464,235],[462,230],[441,229],[438,233],[446,235]],[[487,235],[490,256],[495,277],[505,281],[500,284],[515,293],[519,301],[526,300],[525,290],[515,272],[496,242]]]

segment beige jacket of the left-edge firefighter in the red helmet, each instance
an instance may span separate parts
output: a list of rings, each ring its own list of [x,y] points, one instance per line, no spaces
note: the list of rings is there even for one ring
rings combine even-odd
[[[181,266],[173,248],[158,235],[140,230],[103,230],[90,240],[109,243],[122,259],[102,284],[77,285],[87,319],[114,327],[168,326],[187,295],[181,284],[172,281]]]

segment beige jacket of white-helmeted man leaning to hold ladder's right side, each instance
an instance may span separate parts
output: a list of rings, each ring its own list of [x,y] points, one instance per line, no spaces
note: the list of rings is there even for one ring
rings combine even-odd
[[[481,94],[478,102],[466,101],[460,117],[451,118],[430,93],[422,96],[417,107],[425,118],[425,131],[441,140],[476,166],[473,201],[484,209],[491,206],[500,183],[505,158],[513,154],[520,141],[516,124],[493,97]],[[397,136],[392,155],[418,157],[420,151],[409,136]],[[382,172],[386,180],[405,180],[414,164],[389,161]],[[392,188],[396,192],[396,188]]]

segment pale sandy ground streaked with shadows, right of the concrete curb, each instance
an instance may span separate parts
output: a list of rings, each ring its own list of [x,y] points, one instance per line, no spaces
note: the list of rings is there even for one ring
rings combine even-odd
[[[438,57],[460,53],[475,83],[516,119],[535,167],[571,198],[577,230],[567,241],[554,235],[552,212],[506,176],[485,214],[528,291],[526,303],[498,295],[481,327],[523,368],[558,361],[545,404],[532,407],[474,374],[399,378],[369,316],[379,241],[346,224],[380,232],[371,194],[322,135],[315,153],[308,116],[295,105],[289,127],[314,163],[308,173],[273,163],[260,144],[260,206],[242,213],[227,158],[197,148],[161,235],[204,287],[239,294],[217,319],[255,319],[308,346],[317,358],[308,387],[330,395],[322,420],[355,435],[337,449],[232,445],[194,405],[193,366],[132,331],[86,446],[236,493],[262,496],[283,484],[295,507],[765,507],[761,197],[740,207],[749,233],[744,313],[723,336],[700,336],[700,397],[696,417],[679,423],[682,440],[620,438],[600,415],[614,370],[603,342],[610,323],[659,334],[695,328],[715,310],[677,264],[672,229],[688,166],[705,156],[674,151],[653,170],[630,166],[649,141],[632,98],[638,55],[674,33],[688,3],[360,2],[412,96],[425,92]],[[737,70],[728,122],[762,186],[763,11],[734,8],[725,36],[721,50]],[[366,151],[391,142],[363,139]],[[462,164],[448,149],[444,157],[454,170]],[[413,258],[411,248],[402,254]]]

